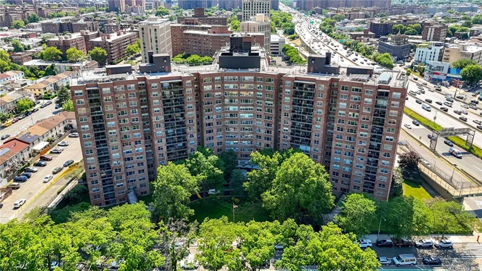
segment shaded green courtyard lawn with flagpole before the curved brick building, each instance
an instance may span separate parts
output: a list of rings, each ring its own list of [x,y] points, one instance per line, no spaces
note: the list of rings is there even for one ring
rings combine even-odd
[[[223,216],[228,217],[228,219],[232,221],[232,203],[228,203],[224,199],[209,197],[194,201],[190,203],[189,206],[194,210],[194,216],[190,218],[190,221],[197,220],[202,222],[206,217],[219,219]],[[236,219],[236,222],[248,222],[253,219],[254,221],[272,220],[269,217],[268,212],[261,207],[261,203],[238,204],[238,208],[235,210],[234,218]]]

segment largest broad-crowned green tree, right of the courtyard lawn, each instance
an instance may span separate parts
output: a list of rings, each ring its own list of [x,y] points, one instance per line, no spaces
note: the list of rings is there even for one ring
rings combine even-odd
[[[331,210],[334,197],[323,165],[303,153],[285,160],[272,182],[261,195],[263,207],[281,221],[320,222],[321,214]]]

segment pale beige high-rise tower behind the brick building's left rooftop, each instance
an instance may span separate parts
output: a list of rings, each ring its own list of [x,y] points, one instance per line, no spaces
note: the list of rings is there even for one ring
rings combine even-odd
[[[172,57],[171,24],[169,19],[149,17],[139,23],[142,62],[148,63],[148,52]]]

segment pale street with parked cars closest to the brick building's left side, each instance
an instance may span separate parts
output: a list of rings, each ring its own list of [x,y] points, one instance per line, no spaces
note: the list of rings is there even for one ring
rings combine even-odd
[[[3,208],[1,208],[0,212],[0,223],[7,223],[8,221],[14,219],[15,217],[17,217],[17,215],[21,213],[21,211],[23,211],[23,208],[25,208],[26,210],[30,208],[30,203],[32,203],[32,200],[34,200],[33,198],[34,196],[36,196],[37,192],[41,191],[48,185],[48,183],[43,183],[43,177],[46,177],[46,175],[48,174],[52,174],[52,170],[54,168],[57,168],[59,166],[61,167],[63,163],[65,163],[65,161],[69,159],[79,161],[82,158],[79,138],[66,137],[65,141],[68,141],[70,144],[65,147],[61,154],[49,154],[52,155],[54,159],[52,159],[52,161],[48,161],[45,167],[37,167],[39,169],[38,172],[32,173],[32,177],[30,177],[28,181],[26,181],[25,183],[20,183],[21,187],[17,190],[13,190],[13,193],[10,195],[10,197],[2,201]],[[64,168],[63,170],[66,169]],[[59,174],[61,174],[61,172],[55,174],[54,178]],[[51,181],[53,180],[54,179],[52,179]],[[39,196],[39,199],[41,199],[41,197],[48,197],[48,195],[50,194],[57,193],[57,190],[59,190],[59,186],[52,185],[52,187],[48,188],[48,190],[44,192],[47,194],[44,195],[44,193],[42,193]],[[26,199],[27,202],[24,206],[28,207],[23,207],[22,210],[14,210],[13,203],[19,199]],[[32,206],[35,207],[36,205]]]

